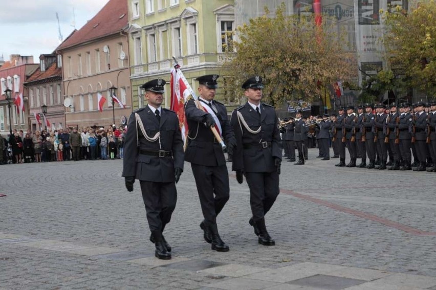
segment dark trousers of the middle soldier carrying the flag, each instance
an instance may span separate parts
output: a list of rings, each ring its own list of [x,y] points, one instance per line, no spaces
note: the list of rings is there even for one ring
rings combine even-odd
[[[229,200],[229,173],[227,166],[204,166],[191,163],[206,225],[215,225],[216,216]]]

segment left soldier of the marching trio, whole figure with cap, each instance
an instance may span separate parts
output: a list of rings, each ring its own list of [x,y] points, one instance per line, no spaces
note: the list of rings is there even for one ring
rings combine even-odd
[[[156,257],[171,258],[162,235],[176,207],[176,183],[183,171],[183,141],[177,115],[161,107],[165,81],[142,85],[148,105],[129,118],[124,142],[123,174],[128,191],[139,180]]]

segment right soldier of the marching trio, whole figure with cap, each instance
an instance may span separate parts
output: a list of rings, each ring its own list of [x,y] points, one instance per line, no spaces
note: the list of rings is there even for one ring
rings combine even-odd
[[[237,144],[232,168],[238,183],[246,176],[253,214],[249,224],[258,242],[273,246],[275,241],[268,234],[265,215],[279,193],[281,140],[274,108],[260,102],[263,87],[260,76],[251,77],[242,85],[248,102],[234,110],[231,118]]]

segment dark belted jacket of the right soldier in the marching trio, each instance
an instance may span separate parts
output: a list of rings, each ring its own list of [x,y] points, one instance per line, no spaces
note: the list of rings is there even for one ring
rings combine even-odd
[[[250,133],[244,125],[239,125],[239,111],[252,130],[261,127],[257,134]],[[273,172],[277,170],[274,158],[281,160],[281,139],[277,127],[277,115],[272,106],[261,103],[260,116],[247,102],[232,113],[231,126],[236,137],[236,150],[233,153],[232,170],[246,172]],[[264,142],[264,143],[263,143]],[[263,144],[267,145],[263,148]],[[244,148],[245,147],[245,148]]]

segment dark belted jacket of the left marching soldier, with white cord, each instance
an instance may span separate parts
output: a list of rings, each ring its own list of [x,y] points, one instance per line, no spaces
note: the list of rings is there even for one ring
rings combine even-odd
[[[145,139],[141,129],[137,126],[135,113],[139,114],[150,138],[160,131],[162,148],[159,147],[159,140],[150,142]],[[139,140],[137,140],[137,136]],[[159,151],[160,149],[172,151],[172,157],[150,156],[140,152],[140,150]],[[183,163],[183,141],[176,113],[162,108],[160,123],[148,106],[140,108],[130,115],[124,140],[122,176],[135,176],[141,181],[173,182],[175,181],[174,168],[178,167],[183,170]]]

